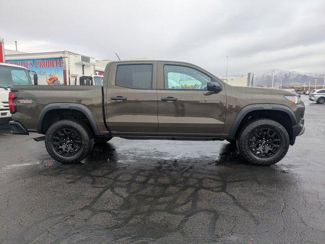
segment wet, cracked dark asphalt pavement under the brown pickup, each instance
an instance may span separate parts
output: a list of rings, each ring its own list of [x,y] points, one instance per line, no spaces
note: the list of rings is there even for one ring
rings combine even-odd
[[[62,165],[0,124],[0,243],[324,243],[325,104],[275,166],[228,142],[113,138]]]

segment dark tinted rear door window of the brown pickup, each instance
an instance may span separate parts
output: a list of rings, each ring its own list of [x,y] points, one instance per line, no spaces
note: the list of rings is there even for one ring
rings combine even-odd
[[[152,89],[153,66],[119,65],[116,70],[115,85],[132,89]]]

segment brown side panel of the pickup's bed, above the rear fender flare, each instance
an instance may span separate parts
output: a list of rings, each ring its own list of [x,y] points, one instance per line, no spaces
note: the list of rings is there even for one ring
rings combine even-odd
[[[27,130],[37,130],[43,108],[52,103],[77,103],[92,111],[101,133],[107,129],[103,121],[102,86],[91,85],[15,85],[12,92],[18,92],[15,99],[16,114]]]

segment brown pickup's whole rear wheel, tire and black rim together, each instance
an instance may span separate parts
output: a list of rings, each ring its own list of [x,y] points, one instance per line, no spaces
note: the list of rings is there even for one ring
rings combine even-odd
[[[90,129],[72,119],[55,122],[45,135],[48,154],[62,164],[75,164],[83,160],[92,150],[94,138]]]

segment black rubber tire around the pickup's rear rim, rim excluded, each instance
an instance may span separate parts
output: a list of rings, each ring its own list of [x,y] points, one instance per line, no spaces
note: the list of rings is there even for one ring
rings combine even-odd
[[[80,137],[81,145],[78,152],[71,157],[62,156],[56,152],[53,147],[52,137],[55,133],[63,128],[73,129]],[[48,154],[57,162],[62,164],[76,164],[82,161],[93,149],[94,138],[90,129],[78,120],[62,119],[51,125],[45,135],[45,147]]]

